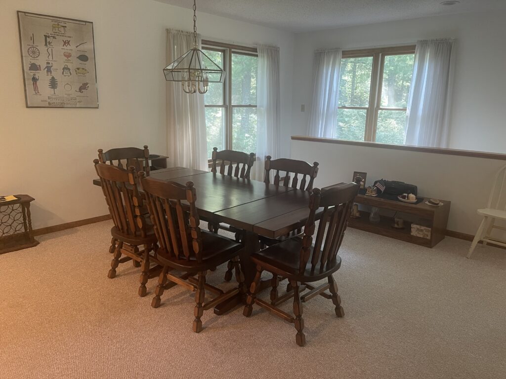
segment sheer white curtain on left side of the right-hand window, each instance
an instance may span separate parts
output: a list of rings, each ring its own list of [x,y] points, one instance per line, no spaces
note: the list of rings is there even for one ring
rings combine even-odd
[[[335,138],[341,56],[340,49],[315,52],[308,135]]]

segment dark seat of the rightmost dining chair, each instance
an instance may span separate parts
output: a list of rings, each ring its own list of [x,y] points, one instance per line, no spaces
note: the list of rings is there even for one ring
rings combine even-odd
[[[323,279],[341,267],[341,257],[336,255],[335,260],[330,262],[329,268],[323,268],[320,271],[320,263],[318,263],[315,269],[311,270],[311,262],[308,262],[304,274],[300,274],[301,248],[302,238],[298,235],[251,254],[251,260],[268,271],[285,276],[288,279],[308,282]]]

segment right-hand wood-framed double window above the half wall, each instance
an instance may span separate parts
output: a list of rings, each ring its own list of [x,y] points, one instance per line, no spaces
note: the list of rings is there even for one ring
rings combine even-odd
[[[404,143],[415,46],[344,51],[336,136]]]

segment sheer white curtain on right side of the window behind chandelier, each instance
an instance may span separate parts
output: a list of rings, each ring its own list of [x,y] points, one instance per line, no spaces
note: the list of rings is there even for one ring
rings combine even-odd
[[[279,48],[258,45],[257,161],[251,178],[264,180],[265,157],[278,157],[281,107],[279,93]]]

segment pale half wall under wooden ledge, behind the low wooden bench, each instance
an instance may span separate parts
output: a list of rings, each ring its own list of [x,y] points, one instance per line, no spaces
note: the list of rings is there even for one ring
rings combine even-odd
[[[451,201],[448,229],[475,234],[496,171],[506,161],[393,149],[291,141],[291,158],[320,163],[316,187],[352,180],[354,171],[374,180],[401,180],[424,197]]]

